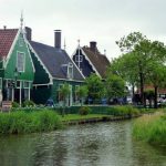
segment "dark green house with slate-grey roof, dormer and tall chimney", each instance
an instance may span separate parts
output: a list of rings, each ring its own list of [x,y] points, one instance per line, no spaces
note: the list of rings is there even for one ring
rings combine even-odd
[[[51,98],[56,105],[61,105],[60,89],[68,83],[71,90],[66,98],[68,105],[79,104],[76,90],[83,84],[84,76],[65,50],[61,49],[61,31],[54,31],[54,46],[32,41],[31,29],[27,28],[25,31],[35,68],[33,101],[44,104]]]

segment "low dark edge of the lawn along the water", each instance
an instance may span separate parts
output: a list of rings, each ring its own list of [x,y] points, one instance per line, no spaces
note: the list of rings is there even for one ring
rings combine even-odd
[[[125,115],[125,116],[110,116],[105,115],[103,117],[93,117],[93,118],[83,118],[83,120],[70,120],[70,121],[62,121],[64,125],[81,125],[81,124],[89,124],[89,123],[98,123],[98,122],[115,122],[115,121],[125,121],[139,117],[141,115]]]

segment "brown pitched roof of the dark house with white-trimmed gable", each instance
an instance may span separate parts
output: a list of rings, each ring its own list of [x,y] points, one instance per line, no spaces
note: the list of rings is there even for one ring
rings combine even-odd
[[[105,77],[106,69],[110,65],[110,61],[107,60],[106,55],[101,54],[97,49],[95,52],[89,46],[83,46],[82,49],[100,75]]]

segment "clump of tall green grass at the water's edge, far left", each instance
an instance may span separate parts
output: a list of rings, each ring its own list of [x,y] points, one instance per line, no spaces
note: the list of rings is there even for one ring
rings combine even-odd
[[[53,111],[39,111],[31,113],[18,111],[0,114],[1,134],[53,131],[61,126],[62,121]]]

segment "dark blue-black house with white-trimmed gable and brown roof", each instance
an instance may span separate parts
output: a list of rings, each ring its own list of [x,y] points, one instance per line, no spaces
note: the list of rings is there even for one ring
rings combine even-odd
[[[105,79],[110,61],[105,54],[100,53],[96,44],[95,41],[90,42],[90,46],[80,46],[79,43],[72,59],[85,77],[95,73],[101,79]]]

